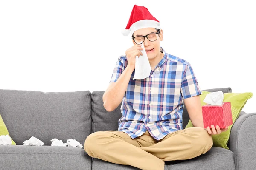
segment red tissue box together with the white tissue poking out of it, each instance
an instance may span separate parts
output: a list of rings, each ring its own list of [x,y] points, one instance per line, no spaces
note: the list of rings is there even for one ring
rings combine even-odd
[[[204,128],[217,125],[224,129],[233,124],[231,102],[223,102],[222,91],[212,92],[206,95],[202,106]]]

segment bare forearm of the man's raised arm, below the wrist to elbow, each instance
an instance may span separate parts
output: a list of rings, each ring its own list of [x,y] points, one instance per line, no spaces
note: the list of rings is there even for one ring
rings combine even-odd
[[[127,66],[116,82],[109,84],[102,96],[104,102],[103,106],[106,111],[111,112],[120,105],[128,87],[132,72],[133,70]]]

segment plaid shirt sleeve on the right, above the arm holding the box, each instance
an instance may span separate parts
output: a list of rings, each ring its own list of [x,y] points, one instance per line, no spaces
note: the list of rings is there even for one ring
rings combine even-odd
[[[202,91],[198,85],[195,73],[191,65],[187,65],[187,69],[185,70],[181,83],[181,95],[183,99],[186,99],[200,94],[202,94]]]

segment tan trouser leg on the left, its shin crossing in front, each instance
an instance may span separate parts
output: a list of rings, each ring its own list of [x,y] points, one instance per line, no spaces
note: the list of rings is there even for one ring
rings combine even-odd
[[[143,134],[144,135],[144,134]],[[115,164],[131,165],[143,170],[163,170],[164,161],[139,149],[147,143],[146,136],[131,139],[120,131],[99,131],[90,134],[84,142],[84,150],[93,158]]]

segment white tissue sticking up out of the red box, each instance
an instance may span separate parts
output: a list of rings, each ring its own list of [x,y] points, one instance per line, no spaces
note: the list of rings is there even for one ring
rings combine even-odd
[[[205,96],[204,102],[209,105],[222,105],[224,99],[224,95],[222,91],[216,91],[212,93],[208,93]]]

